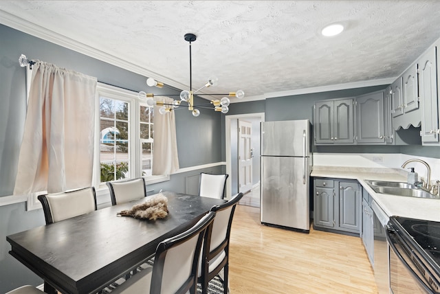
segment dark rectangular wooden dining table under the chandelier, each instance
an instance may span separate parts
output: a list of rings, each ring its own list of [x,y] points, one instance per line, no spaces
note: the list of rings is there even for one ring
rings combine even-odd
[[[175,192],[162,194],[168,199],[165,218],[117,215],[151,195],[7,236],[9,253],[43,278],[46,293],[98,293],[154,256],[159,242],[189,229],[212,206],[225,203]]]

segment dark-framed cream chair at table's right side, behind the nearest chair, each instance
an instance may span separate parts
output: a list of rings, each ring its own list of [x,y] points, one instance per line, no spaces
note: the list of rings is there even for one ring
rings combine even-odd
[[[199,260],[199,283],[201,293],[208,293],[208,283],[223,269],[223,289],[228,293],[229,280],[229,239],[232,218],[236,205],[243,193],[236,194],[230,201],[211,208],[215,212],[214,223],[206,230],[203,253]]]

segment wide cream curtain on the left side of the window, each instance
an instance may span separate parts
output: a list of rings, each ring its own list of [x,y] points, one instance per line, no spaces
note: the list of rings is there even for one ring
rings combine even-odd
[[[38,61],[14,194],[91,185],[96,78]]]

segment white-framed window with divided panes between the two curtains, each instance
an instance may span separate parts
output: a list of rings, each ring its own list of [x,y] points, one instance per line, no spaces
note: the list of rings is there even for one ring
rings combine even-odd
[[[98,83],[94,183],[145,177],[147,183],[168,180],[152,176],[153,108],[137,93]]]

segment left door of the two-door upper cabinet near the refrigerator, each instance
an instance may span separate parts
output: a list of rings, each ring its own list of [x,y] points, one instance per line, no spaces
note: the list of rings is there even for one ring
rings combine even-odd
[[[333,101],[315,104],[315,142],[333,143]]]

